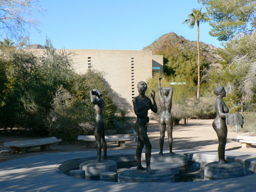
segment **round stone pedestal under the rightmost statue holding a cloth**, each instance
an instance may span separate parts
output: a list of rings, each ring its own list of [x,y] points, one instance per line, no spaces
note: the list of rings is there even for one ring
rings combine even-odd
[[[244,176],[244,169],[240,163],[218,164],[218,161],[208,163],[204,167],[204,179],[226,179]]]

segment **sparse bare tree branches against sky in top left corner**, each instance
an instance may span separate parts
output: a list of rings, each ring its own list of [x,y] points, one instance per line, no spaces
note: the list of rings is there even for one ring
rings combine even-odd
[[[38,0],[1,0],[0,36],[9,36],[16,40],[28,37],[30,26],[37,29],[38,21],[33,19],[35,11],[45,11],[38,6]]]

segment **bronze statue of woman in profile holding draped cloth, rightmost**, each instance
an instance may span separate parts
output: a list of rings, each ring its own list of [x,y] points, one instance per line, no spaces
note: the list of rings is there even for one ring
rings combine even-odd
[[[226,96],[226,91],[223,86],[217,86],[214,89],[214,94],[217,95],[215,102],[216,118],[212,122],[215,132],[219,139],[218,155],[219,164],[227,163],[225,160],[225,146],[227,143],[227,125],[226,116],[229,112],[226,103],[223,101],[223,97]]]

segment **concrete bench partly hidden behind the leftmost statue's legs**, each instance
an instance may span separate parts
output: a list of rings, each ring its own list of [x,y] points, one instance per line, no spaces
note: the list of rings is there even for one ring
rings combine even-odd
[[[78,140],[86,141],[86,147],[92,146],[93,142],[95,142],[95,136],[94,135],[79,135]],[[109,141],[118,141],[118,146],[125,146],[125,141],[132,140],[131,135],[111,135],[111,136],[105,136],[106,142]]]

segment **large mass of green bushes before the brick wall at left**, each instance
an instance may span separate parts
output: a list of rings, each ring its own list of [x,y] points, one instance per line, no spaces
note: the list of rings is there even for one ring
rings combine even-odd
[[[90,90],[94,88],[103,94],[104,118],[110,124],[116,107],[103,74],[78,75],[70,54],[54,49],[50,39],[46,47],[39,58],[14,49],[0,59],[0,125],[22,127],[37,136],[50,133],[67,141],[92,134]]]

